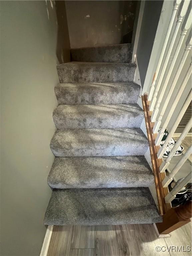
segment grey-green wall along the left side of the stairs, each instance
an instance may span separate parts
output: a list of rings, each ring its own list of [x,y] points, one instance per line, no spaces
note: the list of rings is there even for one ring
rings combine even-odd
[[[0,8],[1,255],[39,255],[51,196],[56,64],[70,58],[66,15],[59,11],[59,28],[53,1],[1,1]]]

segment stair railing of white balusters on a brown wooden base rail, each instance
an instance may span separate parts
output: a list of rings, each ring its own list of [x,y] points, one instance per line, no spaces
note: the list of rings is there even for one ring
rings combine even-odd
[[[176,15],[178,16],[178,18],[175,22]],[[192,118],[190,118],[172,149],[171,147],[168,147],[172,136],[174,135],[185,111],[187,110],[192,100],[192,90],[190,91],[190,93],[189,91],[187,92],[187,90],[189,89],[187,85],[190,82],[192,74],[192,63],[190,63],[190,65],[186,68],[187,59],[190,56],[189,53],[191,53],[192,48],[191,35],[190,33],[188,33],[192,23],[191,15],[192,12],[190,1],[185,0],[182,1],[182,3],[181,1],[175,1],[153,81],[150,88],[147,90],[148,92],[142,92],[144,111],[147,113],[145,114],[147,134],[148,138],[152,138],[149,139],[149,143],[152,144],[152,146],[150,147],[154,148],[153,152],[150,149],[151,162],[153,165],[153,170],[156,171],[156,173],[154,172],[154,174],[157,197],[160,213],[163,213],[163,216],[170,215],[167,214],[167,212],[171,210],[171,202],[174,200],[177,193],[192,180],[192,174],[190,172],[191,170],[189,170],[189,174],[186,177],[183,177],[183,180],[178,185],[175,185],[173,189],[169,192],[168,186],[174,180],[175,175],[180,171],[180,168],[192,154],[192,146],[187,149],[185,154],[182,154],[182,157],[177,162],[177,164],[175,164],[173,170],[166,172],[168,166],[170,165],[170,161],[175,156],[175,153],[178,150],[178,147],[181,145],[182,141],[185,139],[186,135],[192,128]],[[179,29],[181,28],[181,26],[183,30],[180,33],[177,43]],[[174,31],[172,35],[171,31]],[[187,34],[189,34],[188,38],[186,36]],[[182,47],[183,43],[186,44],[184,51]],[[174,47],[175,44],[177,44],[176,48]],[[170,58],[171,56],[173,56],[172,59]],[[170,65],[168,65],[169,62]],[[179,63],[179,65],[176,65],[176,63]],[[178,80],[182,80],[182,82],[179,84],[179,90],[177,88]],[[171,104],[170,99],[174,94],[176,94],[176,96],[174,100],[172,99],[173,103]],[[160,143],[164,136],[164,132],[167,129],[168,125],[170,126],[172,115],[173,113],[176,113],[175,111],[177,110],[177,106],[180,106],[182,104],[181,97],[182,99],[184,99],[184,95],[186,95],[185,102],[181,110],[177,111],[179,113],[177,113],[176,120],[172,124],[170,131],[168,131],[168,136],[165,139],[163,145],[160,146]],[[149,129],[150,125],[152,127],[151,129]],[[159,128],[161,128],[160,131]],[[162,159],[163,155],[167,151],[167,147],[169,149],[168,157]],[[170,207],[166,207],[166,205],[170,205]],[[166,221],[167,220],[165,220],[165,222]],[[162,231],[163,225],[160,226]],[[178,228],[180,225],[176,226]],[[165,234],[165,230],[162,231],[162,234]]]

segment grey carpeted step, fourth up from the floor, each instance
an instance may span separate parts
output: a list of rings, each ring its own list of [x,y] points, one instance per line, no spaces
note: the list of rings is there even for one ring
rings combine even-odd
[[[58,129],[140,128],[143,118],[137,104],[59,105],[53,112]]]

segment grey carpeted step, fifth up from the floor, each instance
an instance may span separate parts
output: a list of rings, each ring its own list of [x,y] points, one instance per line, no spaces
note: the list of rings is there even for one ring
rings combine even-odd
[[[128,83],[64,83],[55,87],[58,104],[136,103],[140,86]]]

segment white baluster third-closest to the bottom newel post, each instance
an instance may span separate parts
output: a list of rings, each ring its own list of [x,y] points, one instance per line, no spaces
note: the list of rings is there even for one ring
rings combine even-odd
[[[183,132],[181,133],[179,139],[177,140],[177,142],[175,143],[174,147],[172,148],[171,152],[169,153],[167,159],[165,161],[162,162],[161,166],[160,166],[160,172],[164,172],[167,167],[169,166],[170,164],[170,161],[171,161],[171,158],[175,155],[178,147],[181,145],[182,141],[185,139],[187,133],[189,132],[189,130],[191,129],[192,127],[192,119],[190,118],[189,122],[187,123],[187,125],[185,126],[185,129],[183,130]],[[170,140],[169,140],[170,141]],[[167,142],[165,141],[165,143],[167,144]],[[164,144],[165,144],[164,143]],[[164,145],[163,144],[163,145]],[[163,148],[163,146],[161,147],[163,150],[161,151],[159,157],[163,156],[163,154],[165,153],[166,151],[166,148]],[[161,149],[160,148],[160,149]],[[159,152],[158,152],[159,154]]]

